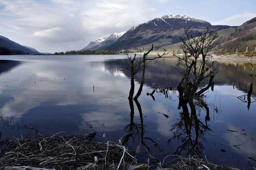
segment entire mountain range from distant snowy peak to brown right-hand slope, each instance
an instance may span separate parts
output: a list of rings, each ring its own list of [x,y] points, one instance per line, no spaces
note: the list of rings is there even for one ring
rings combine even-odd
[[[190,27],[192,33],[201,32],[206,27],[218,32],[213,53],[223,55],[225,53],[243,53],[246,49],[254,51],[256,47],[256,18],[246,21],[240,26],[211,25],[204,20],[190,18],[188,16],[162,16],[146,23],[141,23],[130,28],[119,39],[112,41],[110,37],[92,41],[84,49],[118,51],[128,49],[136,53],[148,50],[154,44],[157,53],[172,51],[182,53],[180,49],[180,37],[184,35],[184,28]],[[90,47],[90,48],[89,48]],[[247,48],[248,47],[248,48]]]

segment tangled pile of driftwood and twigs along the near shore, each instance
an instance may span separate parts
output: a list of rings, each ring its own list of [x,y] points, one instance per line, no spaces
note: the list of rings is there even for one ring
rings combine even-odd
[[[118,143],[96,142],[96,132],[87,135],[52,136],[33,135],[24,139],[12,137],[2,141],[0,169],[6,170],[108,170],[108,169],[230,169],[212,164],[196,156],[174,156],[172,162],[164,160],[150,165],[138,164],[139,151],[128,150]],[[167,156],[168,157],[168,156]],[[166,158],[167,158],[166,157]]]

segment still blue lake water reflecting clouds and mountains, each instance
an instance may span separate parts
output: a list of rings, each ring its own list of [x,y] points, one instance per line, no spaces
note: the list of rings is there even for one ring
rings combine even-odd
[[[206,119],[204,108],[196,107],[198,121],[188,123],[177,109],[181,74],[175,68],[175,58],[157,59],[148,65],[138,98],[141,110],[134,103],[132,117],[125,55],[0,59],[0,140],[32,134],[37,127],[43,135],[97,131],[96,140],[116,142],[134,125],[137,132],[126,147],[136,149],[143,140],[150,154],[161,161],[170,154],[196,154],[241,169],[250,168],[248,161],[256,165],[256,63],[214,61],[218,70],[214,91],[204,93],[210,119]],[[140,73],[136,74],[135,92],[139,83]],[[252,96],[248,98],[251,83]],[[146,95],[155,87],[152,96]],[[170,87],[167,93],[160,91]],[[7,119],[18,123],[6,125]],[[142,156],[141,162],[146,158]],[[168,156],[165,162],[173,158]]]

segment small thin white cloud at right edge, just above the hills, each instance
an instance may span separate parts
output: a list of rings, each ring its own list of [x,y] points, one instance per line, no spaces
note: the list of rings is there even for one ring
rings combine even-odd
[[[212,22],[212,25],[230,25],[230,26],[240,26],[244,22],[256,17],[256,13],[243,13],[228,18],[224,18],[220,21]]]

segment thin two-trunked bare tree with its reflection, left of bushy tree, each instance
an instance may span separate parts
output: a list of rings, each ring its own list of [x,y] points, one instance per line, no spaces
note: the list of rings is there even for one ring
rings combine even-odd
[[[142,93],[142,87],[144,85],[145,70],[146,70],[146,66],[147,66],[148,62],[158,59],[158,58],[161,58],[162,56],[168,54],[168,53],[166,53],[166,50],[164,50],[164,53],[162,55],[158,54],[157,57],[149,58],[148,54],[153,50],[153,47],[154,46],[152,45],[151,49],[147,53],[144,53],[143,57],[141,57],[141,58],[136,58],[136,54],[134,55],[133,58],[129,57],[128,51],[126,51],[126,55],[128,57],[128,64],[127,64],[126,68],[131,73],[131,86],[130,86],[130,92],[129,92],[129,96],[128,96],[131,112],[130,112],[130,123],[125,127],[126,135],[121,137],[118,140],[118,142],[122,143],[122,145],[124,145],[129,141],[130,138],[133,139],[133,142],[135,142],[135,139],[138,139],[138,141],[140,141],[140,144],[137,147],[137,151],[139,152],[140,145],[143,145],[145,147],[148,155],[151,158],[153,158],[155,161],[160,162],[159,160],[157,160],[150,154],[150,147],[148,147],[148,145],[146,144],[146,141],[150,141],[150,143],[153,143],[154,147],[158,148],[160,152],[162,152],[163,150],[160,149],[158,144],[152,138],[145,137],[146,130],[145,130],[145,126],[143,124],[142,108],[140,106],[140,103],[138,102],[138,97]],[[134,96],[134,86],[135,86],[134,76],[141,70],[142,70],[142,76],[141,76],[141,80],[140,80],[140,87],[138,89],[138,92]],[[155,91],[156,91],[156,89],[154,89],[152,93],[148,94],[152,97],[153,100],[155,100],[155,98],[154,98]],[[133,103],[133,101],[135,102],[135,104],[138,108],[138,111],[140,113],[140,123],[134,123],[134,103]]]

